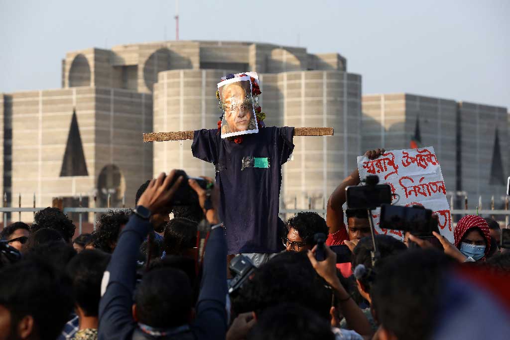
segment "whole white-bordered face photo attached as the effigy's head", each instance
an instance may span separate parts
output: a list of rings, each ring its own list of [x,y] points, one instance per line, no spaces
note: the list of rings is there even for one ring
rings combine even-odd
[[[257,129],[257,121],[253,111],[253,101],[249,81],[239,81],[223,85],[219,88],[223,106],[221,121],[221,137],[253,133]],[[234,135],[235,134],[235,135]]]

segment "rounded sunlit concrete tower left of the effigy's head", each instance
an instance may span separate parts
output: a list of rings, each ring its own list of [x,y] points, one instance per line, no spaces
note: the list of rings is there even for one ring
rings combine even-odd
[[[216,128],[220,119],[217,83],[230,70],[171,70],[159,73],[154,87],[155,132]],[[154,175],[183,169],[191,176],[214,177],[212,164],[193,157],[191,140],[154,143]]]

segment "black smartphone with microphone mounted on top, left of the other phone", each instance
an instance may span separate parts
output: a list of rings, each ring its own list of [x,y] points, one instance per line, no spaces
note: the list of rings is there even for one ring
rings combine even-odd
[[[391,188],[387,184],[375,186],[352,186],[346,188],[349,209],[375,209],[391,203]]]

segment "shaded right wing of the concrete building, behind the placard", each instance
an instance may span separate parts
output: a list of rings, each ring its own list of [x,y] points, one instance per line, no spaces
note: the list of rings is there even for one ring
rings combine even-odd
[[[505,108],[407,93],[363,96],[362,149],[433,146],[455,207],[503,208],[510,171]],[[462,203],[462,206],[461,206]]]

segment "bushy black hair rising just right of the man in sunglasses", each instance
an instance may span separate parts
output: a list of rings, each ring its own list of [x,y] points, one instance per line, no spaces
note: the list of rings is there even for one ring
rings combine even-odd
[[[64,238],[66,243],[71,243],[76,226],[58,208],[47,207],[35,213],[34,222],[30,226],[30,232],[34,233],[42,228],[55,229]]]

